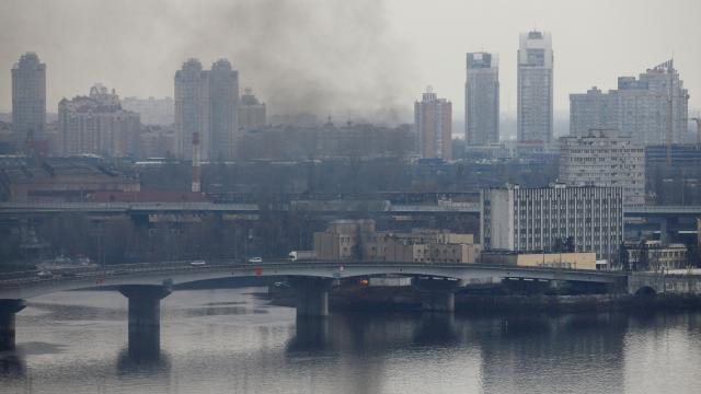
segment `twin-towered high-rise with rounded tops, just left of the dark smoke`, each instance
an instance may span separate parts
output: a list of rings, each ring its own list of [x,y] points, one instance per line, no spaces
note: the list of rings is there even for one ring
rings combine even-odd
[[[231,159],[234,153],[239,104],[239,73],[220,59],[203,70],[188,59],[175,72],[175,147],[192,158],[193,134],[199,132],[202,160]]]

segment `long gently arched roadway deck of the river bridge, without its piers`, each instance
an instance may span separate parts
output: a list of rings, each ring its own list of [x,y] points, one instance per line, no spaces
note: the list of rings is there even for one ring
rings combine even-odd
[[[187,263],[117,265],[107,269],[73,271],[69,276],[39,278],[0,276],[0,299],[26,299],[45,293],[88,287],[119,285],[184,283],[227,277],[283,277],[306,276],[342,279],[372,275],[406,275],[456,278],[463,281],[480,278],[528,278],[544,280],[579,280],[618,283],[623,273],[595,270],[514,267],[475,264],[421,264],[421,263],[264,263],[210,264],[193,266]]]

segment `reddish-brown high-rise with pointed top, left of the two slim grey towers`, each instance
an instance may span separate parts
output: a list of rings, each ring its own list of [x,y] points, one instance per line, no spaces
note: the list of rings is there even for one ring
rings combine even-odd
[[[450,160],[451,123],[452,104],[427,88],[422,101],[414,103],[414,127],[423,159]]]

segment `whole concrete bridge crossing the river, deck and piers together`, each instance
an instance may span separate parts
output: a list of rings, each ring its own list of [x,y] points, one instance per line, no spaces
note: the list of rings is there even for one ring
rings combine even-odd
[[[14,316],[25,300],[64,290],[114,287],[128,299],[129,347],[158,348],[160,300],[174,285],[229,277],[281,277],[297,293],[298,318],[329,314],[329,290],[334,280],[377,275],[413,277],[426,311],[452,312],[455,292],[475,281],[501,279],[565,280],[623,287],[625,275],[591,270],[484,266],[472,264],[280,262],[257,265],[217,263],[156,263],[83,269],[41,278],[36,273],[0,276],[0,350],[14,348]]]

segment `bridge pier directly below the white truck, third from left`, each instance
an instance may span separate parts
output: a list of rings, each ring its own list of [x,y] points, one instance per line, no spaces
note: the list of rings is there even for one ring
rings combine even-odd
[[[297,293],[297,318],[325,317],[329,315],[329,289],[331,279],[290,277],[288,282]]]

